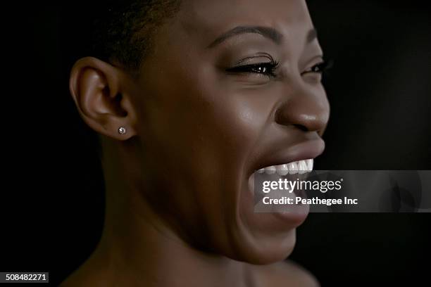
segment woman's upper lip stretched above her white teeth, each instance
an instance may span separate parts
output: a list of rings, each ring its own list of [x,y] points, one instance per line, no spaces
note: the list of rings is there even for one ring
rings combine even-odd
[[[298,160],[316,158],[325,150],[325,141],[320,137],[301,141],[299,144],[272,150],[256,162],[251,173],[271,165],[282,165]]]

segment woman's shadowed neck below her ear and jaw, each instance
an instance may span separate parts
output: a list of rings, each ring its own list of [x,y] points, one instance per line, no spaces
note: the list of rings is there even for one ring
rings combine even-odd
[[[246,264],[193,248],[177,236],[141,196],[133,165],[118,160],[132,158],[122,154],[125,151],[115,153],[103,161],[105,227],[88,262],[107,285],[246,286]]]

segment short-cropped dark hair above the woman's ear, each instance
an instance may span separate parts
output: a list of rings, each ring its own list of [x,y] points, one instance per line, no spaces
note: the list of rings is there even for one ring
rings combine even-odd
[[[156,29],[180,9],[180,0],[102,1],[92,26],[92,56],[136,73],[154,47]]]

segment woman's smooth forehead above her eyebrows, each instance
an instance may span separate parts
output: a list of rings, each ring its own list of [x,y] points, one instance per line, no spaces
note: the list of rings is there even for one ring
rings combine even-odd
[[[305,0],[184,0],[177,20],[207,41],[241,25],[273,27],[286,37],[313,28]]]

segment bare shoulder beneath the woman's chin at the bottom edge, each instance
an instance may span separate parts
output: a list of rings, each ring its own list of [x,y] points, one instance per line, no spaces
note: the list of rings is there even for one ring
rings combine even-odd
[[[320,283],[304,267],[290,260],[277,262],[261,267],[258,270],[258,287],[260,286],[298,286],[318,287]],[[257,271],[256,270],[256,271]],[[256,287],[257,287],[256,286]]]

